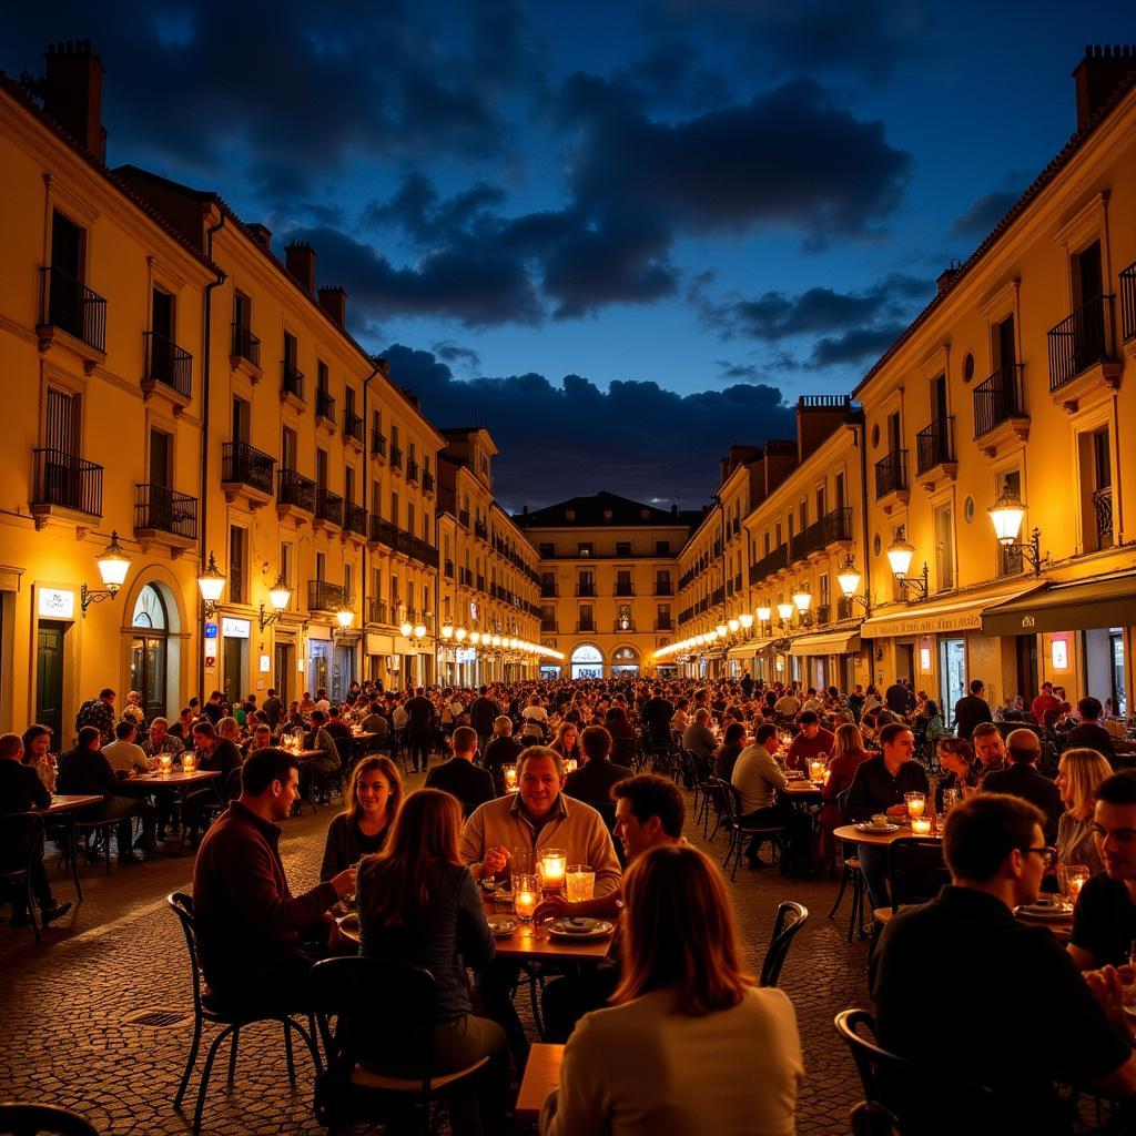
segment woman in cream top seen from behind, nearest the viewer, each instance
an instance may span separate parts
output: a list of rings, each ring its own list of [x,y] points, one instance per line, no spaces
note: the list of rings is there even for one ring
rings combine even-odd
[[[623,978],[569,1037],[542,1136],[788,1136],[804,1077],[796,1014],[742,970],[721,871],[690,845],[660,846],[623,889]]]

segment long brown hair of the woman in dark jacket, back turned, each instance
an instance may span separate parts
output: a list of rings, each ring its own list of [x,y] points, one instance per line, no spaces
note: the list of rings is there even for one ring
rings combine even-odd
[[[429,905],[444,864],[460,864],[461,805],[438,788],[421,788],[402,804],[382,852],[359,863],[359,918],[386,926],[412,925]]]

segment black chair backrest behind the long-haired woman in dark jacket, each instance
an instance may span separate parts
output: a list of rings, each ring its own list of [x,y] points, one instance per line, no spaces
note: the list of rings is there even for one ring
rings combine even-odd
[[[336,1016],[333,1068],[420,1070],[429,1088],[434,1056],[434,976],[423,967],[358,955],[324,959],[311,969],[320,1009]]]

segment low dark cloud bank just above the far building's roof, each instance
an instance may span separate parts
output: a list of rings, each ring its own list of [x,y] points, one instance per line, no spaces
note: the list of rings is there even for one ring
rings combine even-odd
[[[604,392],[579,375],[560,384],[535,374],[459,382],[428,351],[394,344],[385,353],[395,383],[433,421],[490,429],[501,449],[496,493],[509,508],[602,488],[696,508],[718,487],[722,437],[758,443],[792,433],[793,412],[769,386],[680,395],[651,382],[615,382]]]

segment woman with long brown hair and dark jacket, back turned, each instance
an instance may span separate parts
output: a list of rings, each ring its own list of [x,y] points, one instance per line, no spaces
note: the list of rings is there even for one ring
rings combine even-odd
[[[425,967],[437,986],[435,1076],[488,1058],[471,1086],[450,1099],[458,1136],[498,1133],[509,1092],[504,1030],[471,1012],[466,967],[484,967],[496,953],[482,893],[458,854],[461,805],[441,790],[411,793],[386,847],[359,866],[360,954]],[[375,1022],[376,1029],[394,1024]]]

